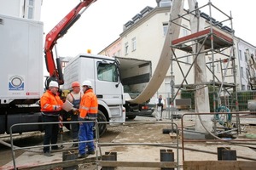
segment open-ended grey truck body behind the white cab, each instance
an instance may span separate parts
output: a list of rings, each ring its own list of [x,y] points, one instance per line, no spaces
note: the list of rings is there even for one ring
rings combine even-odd
[[[148,101],[142,104],[131,103],[131,99],[135,99],[141,94],[144,88],[148,85],[152,77],[152,63],[149,60],[121,58],[119,59],[120,66],[120,81],[124,86],[125,92],[125,115],[128,119],[134,119],[136,116],[153,116],[154,106],[148,105]]]

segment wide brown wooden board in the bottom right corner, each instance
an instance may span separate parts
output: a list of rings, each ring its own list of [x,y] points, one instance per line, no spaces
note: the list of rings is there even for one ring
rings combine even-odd
[[[184,170],[252,170],[256,161],[183,161]]]

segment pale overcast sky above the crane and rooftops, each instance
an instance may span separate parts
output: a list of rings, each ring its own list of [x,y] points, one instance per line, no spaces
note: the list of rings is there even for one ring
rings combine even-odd
[[[208,0],[198,0],[200,7],[208,2]],[[226,14],[230,15],[231,11],[236,37],[256,45],[254,20],[256,1],[212,0],[211,2]],[[41,20],[44,22],[45,34],[78,3],[79,0],[43,0]],[[124,24],[146,6],[156,7],[155,0],[97,0],[82,14],[67,34],[58,40],[59,55],[74,57],[79,53],[86,53],[88,48],[91,49],[92,54],[100,52],[119,37]],[[219,14],[212,16],[216,20],[222,20]],[[230,22],[225,25],[229,26],[229,24]]]

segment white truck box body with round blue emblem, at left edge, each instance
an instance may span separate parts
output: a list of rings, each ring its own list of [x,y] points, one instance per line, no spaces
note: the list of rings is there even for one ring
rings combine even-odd
[[[20,122],[41,122],[44,93],[43,23],[0,14],[0,133]],[[15,127],[13,133],[42,130]]]

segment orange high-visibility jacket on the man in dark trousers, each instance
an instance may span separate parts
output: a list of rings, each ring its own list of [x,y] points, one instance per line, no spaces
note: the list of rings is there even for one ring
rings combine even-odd
[[[40,99],[41,111],[56,112],[57,106],[62,106],[63,101],[60,96],[51,93],[47,90]]]

